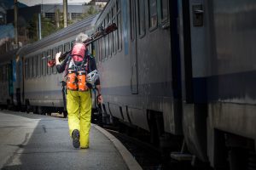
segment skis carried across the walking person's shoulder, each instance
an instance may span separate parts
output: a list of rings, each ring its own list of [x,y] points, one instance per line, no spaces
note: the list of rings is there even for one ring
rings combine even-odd
[[[115,23],[113,23],[113,24],[107,26],[105,29],[104,29],[103,27],[100,27],[100,30],[99,30],[99,31],[96,31],[94,34],[90,35],[90,37],[89,37],[86,41],[84,41],[84,44],[87,46],[87,45],[89,45],[91,42],[95,42],[96,40],[98,40],[98,39],[100,39],[100,38],[102,38],[102,37],[107,36],[109,33],[113,32],[113,31],[115,31],[115,30],[117,30],[117,29],[118,29],[118,28],[117,28],[117,26],[116,26]],[[61,60],[66,59],[66,57],[68,56],[67,54],[70,54],[71,51],[72,51],[72,49],[69,50],[69,51],[67,51],[67,52],[64,53],[64,54],[61,54],[59,60],[61,61]],[[49,67],[53,67],[53,66],[55,65],[55,59],[50,59],[50,60],[47,62],[47,65],[48,65]]]

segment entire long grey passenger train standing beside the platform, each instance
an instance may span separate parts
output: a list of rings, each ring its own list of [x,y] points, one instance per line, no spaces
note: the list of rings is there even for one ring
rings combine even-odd
[[[100,14],[1,56],[0,104],[67,116],[61,74],[47,60],[79,32],[116,23],[90,45],[102,121],[143,129],[172,159],[256,169],[255,17],[252,0],[109,0]]]

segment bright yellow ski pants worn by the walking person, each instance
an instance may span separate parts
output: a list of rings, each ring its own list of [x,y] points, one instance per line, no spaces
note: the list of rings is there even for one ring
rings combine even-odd
[[[67,114],[70,136],[74,129],[78,129],[80,148],[88,148],[91,115],[90,90],[86,92],[67,90]]]

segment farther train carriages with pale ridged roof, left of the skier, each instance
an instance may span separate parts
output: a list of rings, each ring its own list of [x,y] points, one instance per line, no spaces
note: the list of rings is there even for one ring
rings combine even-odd
[[[93,31],[95,19],[95,15],[90,16],[38,42],[1,55],[0,105],[38,114],[57,111],[66,117],[64,79],[57,73],[56,66],[48,67],[47,62],[55,59],[56,53],[69,51],[79,32]],[[91,51],[90,46],[88,48]]]

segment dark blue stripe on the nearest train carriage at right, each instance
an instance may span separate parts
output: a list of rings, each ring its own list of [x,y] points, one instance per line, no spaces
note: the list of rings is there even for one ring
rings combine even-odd
[[[227,99],[244,102],[247,99],[256,100],[256,71],[193,78],[193,85],[195,103]]]

